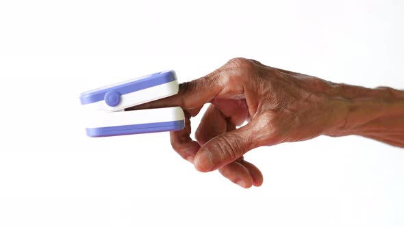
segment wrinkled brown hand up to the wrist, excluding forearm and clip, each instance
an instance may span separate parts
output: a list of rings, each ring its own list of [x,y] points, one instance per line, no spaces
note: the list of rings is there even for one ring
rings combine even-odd
[[[323,93],[333,83],[236,58],[205,77],[182,83],[179,93],[131,109],[180,106],[186,128],[171,144],[201,172],[219,170],[241,187],[262,185],[262,173],[244,161],[259,146],[311,139],[344,124],[346,108]],[[190,118],[211,103],[190,138]],[[341,120],[342,119],[342,120]],[[237,129],[237,126],[248,124]]]

